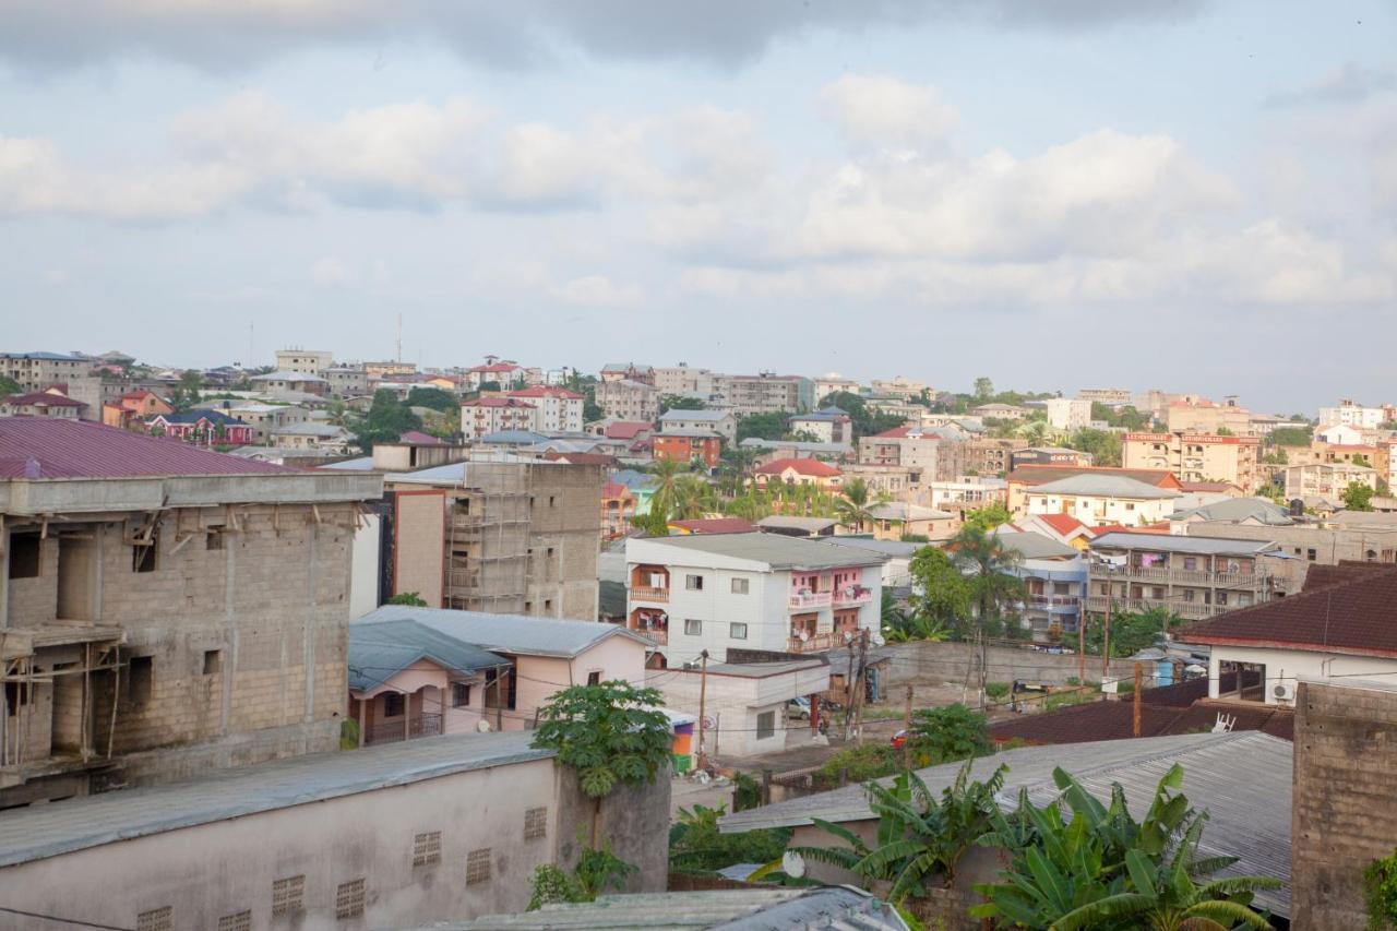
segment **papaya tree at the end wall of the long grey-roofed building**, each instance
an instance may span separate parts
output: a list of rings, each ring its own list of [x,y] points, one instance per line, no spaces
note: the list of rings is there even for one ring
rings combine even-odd
[[[619,786],[654,783],[669,763],[669,719],[658,689],[620,679],[573,685],[538,710],[532,746],[557,752],[577,772],[583,793],[595,801],[591,847],[597,846],[602,800]]]

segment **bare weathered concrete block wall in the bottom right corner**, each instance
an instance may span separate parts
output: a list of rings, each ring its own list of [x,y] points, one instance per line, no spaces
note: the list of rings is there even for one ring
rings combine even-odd
[[[1301,682],[1291,921],[1362,928],[1363,869],[1397,846],[1397,691]]]

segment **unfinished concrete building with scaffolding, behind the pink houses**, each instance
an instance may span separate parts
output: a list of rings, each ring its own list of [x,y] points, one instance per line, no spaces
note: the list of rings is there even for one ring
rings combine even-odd
[[[604,468],[467,461],[384,478],[393,591],[429,607],[597,618]]]

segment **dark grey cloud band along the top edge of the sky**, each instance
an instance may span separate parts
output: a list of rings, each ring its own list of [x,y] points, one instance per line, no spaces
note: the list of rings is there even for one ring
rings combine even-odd
[[[429,42],[502,67],[535,66],[571,50],[735,66],[760,57],[780,39],[817,31],[928,21],[1081,31],[1120,21],[1176,21],[1206,6],[1206,0],[8,0],[0,4],[0,60],[54,70],[158,57],[225,70],[331,43]]]

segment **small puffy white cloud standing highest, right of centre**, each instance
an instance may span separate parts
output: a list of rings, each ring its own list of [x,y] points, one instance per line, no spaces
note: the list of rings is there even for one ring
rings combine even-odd
[[[845,74],[820,101],[856,147],[939,147],[960,123],[936,88],[884,75]]]

